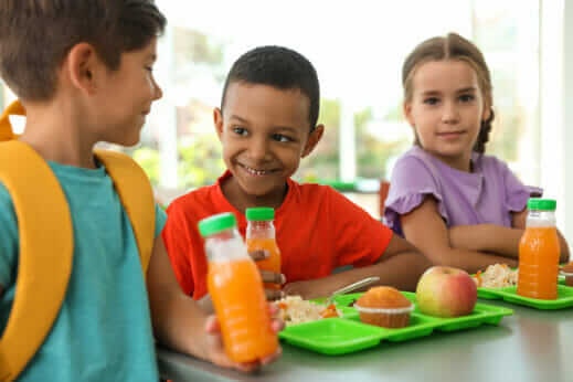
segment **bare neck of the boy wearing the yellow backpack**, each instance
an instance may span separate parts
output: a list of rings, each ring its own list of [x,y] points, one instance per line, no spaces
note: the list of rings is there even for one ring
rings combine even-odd
[[[82,134],[82,118],[71,105],[26,105],[25,129],[20,140],[45,160],[61,165],[95,168],[94,139]]]

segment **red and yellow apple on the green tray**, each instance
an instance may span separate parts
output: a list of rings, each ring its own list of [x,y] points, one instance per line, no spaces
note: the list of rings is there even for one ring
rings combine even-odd
[[[474,311],[476,283],[467,272],[449,266],[433,266],[417,283],[416,305],[421,312],[435,317],[459,317]]]

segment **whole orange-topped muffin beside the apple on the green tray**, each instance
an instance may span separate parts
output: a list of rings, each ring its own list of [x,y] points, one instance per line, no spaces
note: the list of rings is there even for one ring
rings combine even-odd
[[[393,329],[406,327],[414,310],[414,305],[397,289],[385,286],[370,288],[354,307],[360,312],[360,321]]]

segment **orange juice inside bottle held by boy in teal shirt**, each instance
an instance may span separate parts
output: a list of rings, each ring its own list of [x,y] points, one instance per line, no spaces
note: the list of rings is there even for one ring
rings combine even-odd
[[[276,351],[277,336],[253,261],[210,262],[208,288],[231,360],[252,362]]]

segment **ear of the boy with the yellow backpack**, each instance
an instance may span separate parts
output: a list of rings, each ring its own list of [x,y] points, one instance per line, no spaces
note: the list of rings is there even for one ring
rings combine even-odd
[[[74,45],[67,53],[64,70],[74,87],[85,93],[93,94],[96,86],[96,73],[103,65],[97,53],[88,43]]]

